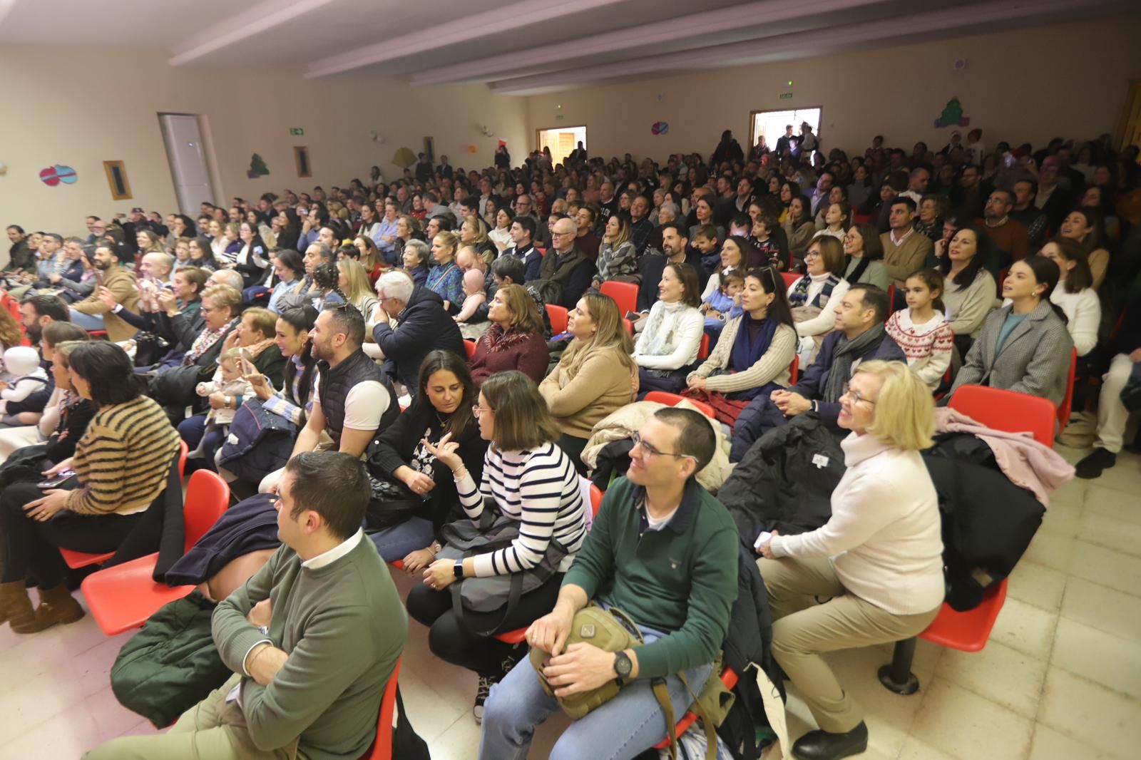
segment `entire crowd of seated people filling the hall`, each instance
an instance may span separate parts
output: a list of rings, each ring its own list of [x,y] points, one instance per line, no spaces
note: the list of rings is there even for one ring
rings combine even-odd
[[[915,573],[938,575],[938,512],[926,486],[908,485],[923,479],[912,470],[930,430],[888,426],[904,407],[908,419],[930,417],[932,394],[946,403],[965,385],[1061,405],[1076,353],[1079,382],[1102,380],[1095,447],[1077,468],[1097,477],[1125,445],[1120,391],[1141,363],[1141,236],[1115,205],[1141,181],[1135,148],[1115,153],[1099,139],[988,152],[979,130],[938,151],[884,145],[877,137],[863,155],[825,154],[810,129],[790,128],[776,149],[744,151],[727,132],[709,160],[605,161],[580,149],[559,165],[535,152],[515,168],[464,171],[445,157],[393,181],[374,168],[369,181],[327,192],[203,203],[196,219],[92,216],[86,237],[9,226],[3,276],[22,324],[5,314],[13,324],[0,321],[0,340],[19,342],[22,328],[46,374],[37,393],[8,402],[0,452],[74,474],[41,490],[27,477],[35,470],[9,478],[0,468],[0,621],[30,633],[82,615],[56,549],[119,549],[181,438],[189,468],[218,471],[236,496],[277,494],[268,508],[280,510],[281,549],[215,615],[236,673],[227,689],[238,686],[242,701],[226,706],[212,694],[209,721],[184,718],[164,741],[220,727],[275,751],[296,742],[359,754],[403,644],[404,613],[393,609],[381,563],[398,560],[423,580],[407,607],[429,625],[431,650],[479,676],[482,757],[525,753],[557,705],[520,649],[493,638],[533,621],[527,644],[549,654],[541,672],[553,688],[615,677],[638,687],[592,713],[589,728],[576,723],[552,757],[589,754],[599,737],[634,757],[663,735],[648,679],[671,677],[683,710],[672,677],[709,674],[736,595],[734,563],[675,572],[677,557],[731,556],[739,540],[696,485],[719,427],[696,412],[646,418],[626,479],[586,532],[580,476],[592,432],[664,390],[712,406],[731,461],[810,414],[851,434],[851,462],[885,452],[898,464],[891,487],[912,501],[884,525],[852,516],[863,500],[890,498],[841,487],[833,523],[759,548],[779,618],[774,653],[820,727],[798,757],[844,757],[866,729],[850,698],[828,696],[842,689],[818,656],[835,642],[794,612],[794,598],[845,599],[830,615],[865,621],[848,646],[906,638],[941,600],[934,585],[919,593],[914,583],[900,599],[899,579],[873,572],[879,553],[907,542]],[[620,306],[604,290],[629,296]],[[244,445],[258,415],[292,437]],[[659,535],[647,544],[647,532]],[[494,551],[458,548],[480,542]],[[840,552],[850,561],[817,567]],[[343,584],[350,565],[385,580],[340,585],[331,598],[298,580]],[[479,606],[518,577],[507,614]],[[463,604],[445,591],[456,581]],[[351,606],[349,588],[379,606],[307,629],[307,611]],[[298,597],[282,620],[270,593]],[[632,612],[646,644],[618,655],[565,648],[591,601]],[[309,637],[318,655],[302,666],[296,653]],[[306,706],[296,689],[307,689],[311,669],[337,647],[363,647],[362,637],[367,662],[351,674],[332,668]],[[165,746],[131,742],[92,757]],[[277,757],[258,752],[248,757]]]

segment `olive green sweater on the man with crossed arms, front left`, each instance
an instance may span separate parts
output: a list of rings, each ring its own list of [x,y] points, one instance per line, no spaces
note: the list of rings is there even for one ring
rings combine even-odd
[[[245,618],[270,598],[269,636]],[[300,736],[308,760],[357,760],[377,734],[380,697],[404,649],[408,620],[377,547],[363,536],[318,568],[282,545],[213,614],[213,638],[230,670],[244,673],[266,638],[289,660],[268,686],[242,679],[242,712],[259,750]]]

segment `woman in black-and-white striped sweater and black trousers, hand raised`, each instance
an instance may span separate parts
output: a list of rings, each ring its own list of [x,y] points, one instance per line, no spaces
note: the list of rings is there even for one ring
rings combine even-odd
[[[539,395],[534,380],[517,370],[488,378],[474,409],[479,435],[491,442],[484,471],[477,484],[459,455],[459,443],[450,435],[429,452],[447,466],[455,478],[463,511],[474,524],[487,529],[492,506],[499,511],[493,526],[516,524],[518,535],[507,545],[461,559],[437,559],[424,571],[424,582],[408,593],[408,614],[430,626],[428,645],[447,662],[479,674],[475,717],[483,717],[484,700],[526,654],[526,647],[508,649],[493,633],[528,625],[549,613],[558,599],[563,574],[574,560],[586,534],[584,506],[574,464],[556,445],[558,425]],[[480,519],[484,518],[484,519]],[[467,606],[456,615],[452,593],[445,591],[462,579],[486,579],[523,573],[525,585],[518,603],[491,612]],[[505,606],[505,607],[504,607]],[[504,612],[505,608],[505,612]]]

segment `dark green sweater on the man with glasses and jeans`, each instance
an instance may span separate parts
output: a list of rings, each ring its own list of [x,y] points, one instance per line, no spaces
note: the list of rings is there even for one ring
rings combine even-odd
[[[644,493],[625,478],[610,485],[563,584],[667,633],[638,649],[638,677],[654,678],[717,657],[737,600],[739,537],[726,508],[693,478],[670,522],[642,533]]]

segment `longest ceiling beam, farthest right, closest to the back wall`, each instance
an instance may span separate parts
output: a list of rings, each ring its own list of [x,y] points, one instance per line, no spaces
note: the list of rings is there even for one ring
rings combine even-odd
[[[535,95],[570,89],[589,82],[624,79],[689,68],[723,68],[772,60],[788,60],[826,55],[833,51],[867,47],[868,43],[896,40],[906,42],[911,35],[940,32],[980,33],[998,31],[996,24],[1021,21],[1028,26],[1054,23],[1059,16],[1085,14],[1090,6],[1100,10],[1127,9],[1128,0],[1093,0],[1075,6],[1071,0],[1014,0],[980,2],[946,8],[887,21],[865,22],[812,32],[751,39],[665,55],[645,56],[631,60],[581,66],[545,74],[509,78],[491,83],[495,92]],[[1051,16],[1054,14],[1054,16]]]

